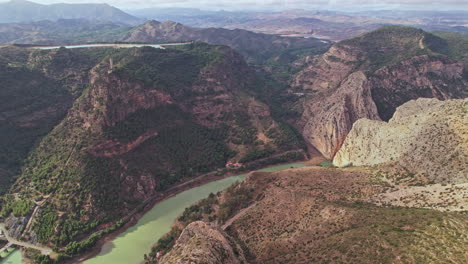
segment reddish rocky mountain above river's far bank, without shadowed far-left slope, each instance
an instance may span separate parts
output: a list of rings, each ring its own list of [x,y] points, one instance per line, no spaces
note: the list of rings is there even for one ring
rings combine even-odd
[[[10,190],[25,201],[32,198],[22,193],[37,193],[35,199],[46,201],[44,212],[57,216],[48,224],[57,228],[54,237],[38,235],[41,242],[66,244],[93,232],[91,222],[112,225],[181,179],[224,168],[230,159],[263,151],[267,154],[253,158],[261,162],[296,149],[280,146],[273,136],[254,144],[279,124],[251,91],[256,73],[229,47],[193,43],[165,50],[108,49],[101,56],[94,49],[36,53],[43,56],[30,55],[29,61],[47,76],[83,69],[79,63],[56,69],[60,56],[54,54],[63,54],[67,62],[74,56],[87,62],[79,77],[89,77],[66,116],[35,146]],[[66,88],[76,91],[79,82],[70,83]],[[75,202],[66,198],[77,195]],[[42,217],[34,217],[38,225]],[[68,231],[59,228],[61,221],[80,221],[88,228],[62,236]],[[32,229],[41,230],[38,225]]]

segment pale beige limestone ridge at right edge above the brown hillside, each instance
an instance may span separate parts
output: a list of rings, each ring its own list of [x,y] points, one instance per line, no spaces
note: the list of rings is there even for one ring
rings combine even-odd
[[[390,121],[358,120],[336,154],[335,166],[397,164],[431,181],[468,180],[468,99],[418,99]]]

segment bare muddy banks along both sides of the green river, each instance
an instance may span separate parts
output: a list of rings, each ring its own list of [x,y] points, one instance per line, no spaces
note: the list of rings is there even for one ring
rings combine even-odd
[[[276,165],[266,166],[265,168],[263,168],[261,170],[269,170],[269,169],[273,169],[273,168],[281,168],[280,170],[287,169],[287,168],[289,168],[289,166],[285,167],[285,165],[289,165],[289,164],[291,164],[291,166],[299,166],[298,164],[300,164],[300,163],[285,162],[282,165],[276,164]],[[300,164],[300,166],[305,166],[305,165]],[[278,170],[278,169],[273,169],[273,170]],[[256,170],[252,170],[252,171],[256,171]],[[161,193],[158,196],[152,197],[152,198],[148,199],[147,201],[145,201],[146,204],[144,205],[144,207],[142,209],[140,209],[138,212],[134,213],[132,216],[130,216],[127,219],[128,221],[124,226],[122,226],[121,228],[118,228],[113,233],[110,233],[108,235],[104,235],[101,239],[98,240],[96,245],[94,247],[92,247],[89,251],[87,251],[86,253],[84,253],[84,254],[82,254],[80,256],[71,258],[71,259],[67,260],[65,263],[70,263],[71,264],[71,263],[81,263],[81,262],[90,261],[90,260],[92,261],[93,258],[97,257],[103,251],[108,251],[109,250],[109,252],[110,252],[112,250],[112,248],[114,247],[113,241],[116,238],[118,238],[119,236],[121,236],[125,232],[129,231],[130,229],[133,230],[131,232],[129,231],[130,233],[137,232],[137,231],[135,231],[136,229],[139,228],[139,226],[137,226],[137,224],[146,214],[148,214],[156,206],[164,204],[163,202],[166,202],[167,200],[169,200],[171,198],[175,199],[175,196],[177,196],[178,194],[182,194],[182,193],[185,193],[186,191],[193,190],[196,187],[203,187],[203,186],[206,186],[206,185],[211,184],[211,183],[213,183],[213,184],[220,183],[220,182],[223,182],[223,180],[228,180],[231,177],[232,178],[235,178],[236,176],[245,177],[245,175],[247,175],[248,173],[250,173],[252,171],[247,171],[247,172],[242,173],[242,174],[239,174],[239,172],[229,172],[229,173],[226,173],[226,174],[224,174],[222,176],[216,176],[216,173],[212,172],[212,173],[209,173],[209,174],[198,176],[197,178],[194,178],[194,179],[187,180],[186,182],[183,182],[183,183],[181,183],[181,184],[179,184],[177,186],[174,186],[174,187],[168,189],[166,192]],[[225,187],[228,187],[232,183],[227,184]],[[223,183],[223,184],[226,184],[226,183]],[[222,189],[224,189],[225,187],[223,187]],[[214,192],[216,193],[217,191],[214,191]],[[206,195],[201,196],[200,199],[203,199],[204,197],[208,196],[208,194],[209,194],[209,192],[206,193]],[[188,198],[192,199],[193,197],[190,196]],[[193,203],[198,201],[198,200],[193,201]],[[192,202],[188,203],[186,206],[189,206],[190,204],[192,204]],[[173,217],[175,218],[180,213],[182,213],[182,211],[185,209],[186,206],[184,206],[183,208],[180,208],[180,212],[177,212],[177,214],[174,215]],[[174,212],[170,212],[170,213],[174,214]],[[160,217],[160,216],[158,216],[158,217]],[[149,221],[149,220],[146,219],[146,221]],[[168,222],[170,224],[172,224],[173,220],[171,219]],[[169,229],[164,231],[162,234],[164,234],[164,233],[166,233],[168,231],[169,231]],[[149,247],[152,244],[154,244],[157,241],[157,239],[158,239],[158,237],[154,237],[152,239],[151,244],[149,245]],[[107,243],[109,243],[109,244],[107,244]],[[104,248],[105,245],[107,245],[107,248]],[[146,245],[145,245],[145,247],[146,247]],[[143,253],[139,257],[142,258]],[[99,263],[101,263],[101,262],[99,262]]]

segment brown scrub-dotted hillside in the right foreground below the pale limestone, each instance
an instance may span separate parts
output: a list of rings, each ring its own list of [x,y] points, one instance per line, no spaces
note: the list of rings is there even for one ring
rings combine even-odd
[[[239,208],[226,232],[243,245],[251,263],[393,263],[403,258],[418,263],[428,255],[437,263],[454,256],[454,262],[463,262],[464,256],[454,253],[464,252],[466,243],[451,231],[467,230],[466,216],[445,212],[452,207],[447,202],[439,205],[443,212],[407,208],[407,204],[372,205],[368,202],[395,188],[376,184],[375,173],[372,168],[304,167],[250,174],[242,186],[252,190],[255,206]],[[466,188],[452,189],[466,192]],[[449,192],[426,195],[444,201],[454,196]],[[232,197],[226,203],[250,203]],[[466,208],[466,201],[459,202],[457,208]],[[437,226],[435,219],[439,219]],[[450,247],[443,247],[446,243]],[[427,257],[422,262],[431,261]]]

